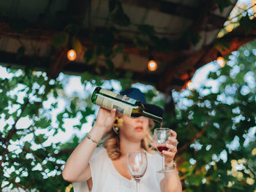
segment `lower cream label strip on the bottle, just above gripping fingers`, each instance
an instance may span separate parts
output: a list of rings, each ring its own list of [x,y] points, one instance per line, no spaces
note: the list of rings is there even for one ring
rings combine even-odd
[[[132,115],[131,106],[121,103],[121,101],[115,101],[114,99],[110,99],[102,95],[97,96],[96,104],[107,110],[112,110],[113,108],[116,108],[116,112],[128,117],[131,117]]]

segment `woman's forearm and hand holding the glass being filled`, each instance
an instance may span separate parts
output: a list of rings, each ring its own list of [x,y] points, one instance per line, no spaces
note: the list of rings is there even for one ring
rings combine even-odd
[[[177,134],[175,131],[170,130],[170,137],[168,137],[168,142],[166,147],[168,150],[162,151],[165,155],[165,166],[173,166],[174,156],[177,152],[178,141],[176,139]],[[165,172],[165,177],[160,182],[160,188],[162,192],[181,192],[182,185],[181,180],[178,177],[178,170],[175,168],[170,170],[170,172]]]

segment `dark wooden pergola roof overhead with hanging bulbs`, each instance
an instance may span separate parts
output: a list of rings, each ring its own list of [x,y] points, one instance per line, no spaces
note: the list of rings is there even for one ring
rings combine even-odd
[[[50,77],[57,77],[59,72],[90,72],[106,77],[108,66],[102,57],[97,57],[93,64],[86,64],[82,57],[93,46],[89,37],[91,29],[103,30],[105,26],[114,26],[119,31],[115,44],[124,45],[124,53],[130,61],[124,61],[121,53],[111,56],[119,77],[132,72],[132,80],[156,85],[159,91],[168,92],[173,88],[182,88],[196,69],[217,58],[217,34],[236,4],[236,0],[231,1],[233,5],[220,12],[213,0],[121,0],[124,12],[131,21],[128,27],[110,23],[108,0],[0,1],[0,63],[20,67],[27,66],[37,58],[39,62],[34,62],[34,67],[48,71]],[[50,39],[64,30],[70,18],[72,23],[83,28],[78,34],[83,47],[76,61],[66,62],[60,59],[64,57],[63,52],[53,54]],[[22,22],[29,26],[18,28]],[[151,39],[145,36],[140,39],[148,46],[136,47],[135,41],[141,34],[138,26],[153,26],[154,35],[160,39],[159,44],[165,50],[157,50],[157,45],[152,47]],[[194,45],[192,37],[200,37]],[[222,54],[227,55],[254,38],[253,31],[246,34],[238,28],[222,38],[230,43],[230,48]],[[26,54],[17,60],[17,51],[21,46],[26,48]],[[158,64],[154,72],[147,68],[150,56]]]

